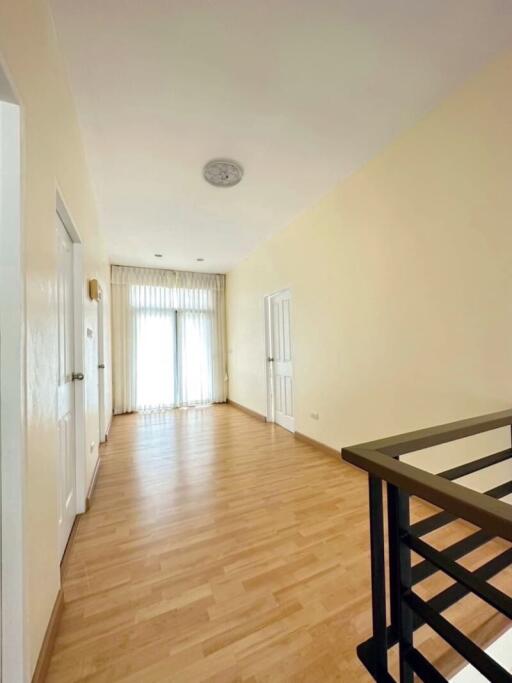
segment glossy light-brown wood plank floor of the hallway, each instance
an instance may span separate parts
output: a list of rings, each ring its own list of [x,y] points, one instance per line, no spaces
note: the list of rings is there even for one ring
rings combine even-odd
[[[366,478],[233,407],[115,418],[63,583],[49,683],[370,680]]]

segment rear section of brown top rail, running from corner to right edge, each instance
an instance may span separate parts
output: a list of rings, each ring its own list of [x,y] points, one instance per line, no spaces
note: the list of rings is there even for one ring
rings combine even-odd
[[[467,420],[449,422],[437,427],[418,429],[414,432],[397,434],[377,441],[357,444],[350,448],[362,448],[368,451],[379,451],[386,455],[398,457],[405,453],[438,446],[442,443],[463,439],[467,436],[488,432],[499,427],[512,425],[512,410],[502,410],[497,413],[489,413],[480,417],[471,417]]]

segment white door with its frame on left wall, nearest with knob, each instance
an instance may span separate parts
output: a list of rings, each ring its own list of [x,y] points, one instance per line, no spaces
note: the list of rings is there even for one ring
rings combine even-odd
[[[76,515],[85,511],[84,285],[82,244],[57,192],[58,547],[62,559]]]

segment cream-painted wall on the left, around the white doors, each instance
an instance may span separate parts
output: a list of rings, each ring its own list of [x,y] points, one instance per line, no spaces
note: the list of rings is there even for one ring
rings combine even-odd
[[[60,584],[56,460],[57,186],[84,244],[84,287],[86,278],[98,277],[108,294],[109,277],[77,117],[44,1],[0,2],[0,54],[22,106],[28,384],[27,616],[33,668]],[[87,299],[85,317],[85,325],[93,330],[95,341],[96,305]],[[109,321],[108,301],[105,318]],[[88,341],[85,344],[87,347]],[[95,354],[86,353],[86,358],[90,475],[97,458],[98,417],[93,386]],[[109,406],[110,392],[107,412]],[[95,447],[90,453],[92,442]]]

